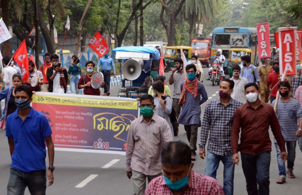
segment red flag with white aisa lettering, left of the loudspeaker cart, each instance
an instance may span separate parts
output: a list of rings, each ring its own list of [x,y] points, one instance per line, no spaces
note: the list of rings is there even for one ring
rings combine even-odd
[[[88,46],[90,46],[100,57],[103,57],[105,53],[109,51],[106,41],[99,32],[95,33],[88,43]]]

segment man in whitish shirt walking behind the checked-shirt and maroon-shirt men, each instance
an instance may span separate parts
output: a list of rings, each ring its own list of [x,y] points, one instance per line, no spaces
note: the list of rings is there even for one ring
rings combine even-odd
[[[247,81],[246,78],[240,76],[240,71],[241,68],[239,65],[235,65],[233,67],[233,77],[231,78],[231,80],[234,81],[235,85],[233,88],[233,93],[231,94],[231,98],[245,104],[246,97],[245,97],[244,86],[249,82]]]

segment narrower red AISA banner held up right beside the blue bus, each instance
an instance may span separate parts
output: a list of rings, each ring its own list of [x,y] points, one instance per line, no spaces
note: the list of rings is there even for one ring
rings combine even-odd
[[[269,23],[257,24],[259,59],[271,58],[271,42],[269,39]]]

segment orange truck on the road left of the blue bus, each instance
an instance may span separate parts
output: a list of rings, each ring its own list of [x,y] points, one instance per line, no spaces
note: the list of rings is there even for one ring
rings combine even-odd
[[[207,66],[207,68],[210,66],[211,41],[211,38],[205,37],[194,37],[191,41],[193,53],[198,56],[198,60],[201,64]]]

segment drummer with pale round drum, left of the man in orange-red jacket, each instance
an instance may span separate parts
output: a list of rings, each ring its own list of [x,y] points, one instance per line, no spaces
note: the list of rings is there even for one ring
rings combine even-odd
[[[29,77],[25,85],[30,87],[32,91],[41,91],[40,85],[43,85],[43,74],[35,68],[35,64],[31,60],[28,64],[28,71]]]

